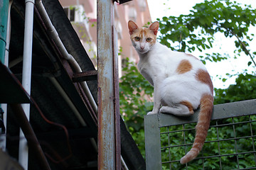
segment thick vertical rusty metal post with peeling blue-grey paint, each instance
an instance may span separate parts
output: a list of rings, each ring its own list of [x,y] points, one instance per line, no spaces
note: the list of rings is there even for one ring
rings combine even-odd
[[[114,4],[97,0],[98,169],[121,169]],[[118,73],[118,72],[117,72]],[[118,110],[118,111],[117,111]],[[118,113],[117,113],[118,112]]]

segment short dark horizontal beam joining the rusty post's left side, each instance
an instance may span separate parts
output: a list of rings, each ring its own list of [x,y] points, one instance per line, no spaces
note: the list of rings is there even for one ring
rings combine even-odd
[[[97,70],[75,73],[72,80],[73,82],[97,80]]]

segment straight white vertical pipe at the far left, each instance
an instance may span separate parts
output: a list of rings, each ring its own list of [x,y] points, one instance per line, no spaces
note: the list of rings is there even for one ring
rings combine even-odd
[[[33,7],[34,0],[26,0],[25,11],[25,30],[24,30],[24,47],[23,47],[23,70],[22,70],[22,86],[27,91],[28,95],[31,94],[31,64],[32,64],[32,41],[33,41]],[[26,117],[29,120],[30,104],[22,105]],[[20,131],[21,140],[18,149],[18,162],[24,169],[28,169],[28,146],[27,141],[22,140],[24,134]]]

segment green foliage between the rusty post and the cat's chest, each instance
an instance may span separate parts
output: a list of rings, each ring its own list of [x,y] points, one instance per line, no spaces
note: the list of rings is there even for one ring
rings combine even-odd
[[[144,115],[153,108],[153,103],[149,102],[153,86],[142,77],[132,62],[126,63],[123,72],[119,83],[120,113],[144,157]]]

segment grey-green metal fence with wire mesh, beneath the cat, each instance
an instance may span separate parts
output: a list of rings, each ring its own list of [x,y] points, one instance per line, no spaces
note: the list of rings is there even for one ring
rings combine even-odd
[[[256,100],[214,106],[201,153],[188,164],[198,111],[191,117],[146,115],[146,169],[256,169]]]

